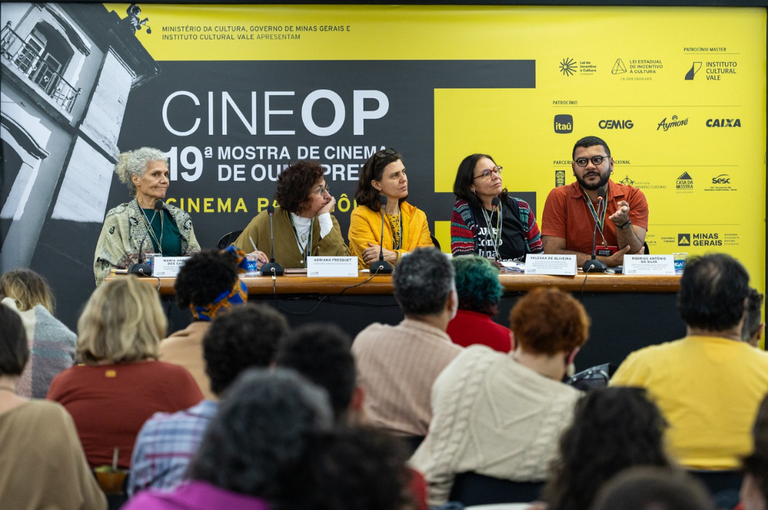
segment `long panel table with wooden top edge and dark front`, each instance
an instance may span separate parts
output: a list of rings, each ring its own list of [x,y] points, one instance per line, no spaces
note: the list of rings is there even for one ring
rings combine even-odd
[[[119,278],[120,276],[110,276]],[[583,370],[603,363],[618,365],[641,347],[685,335],[676,308],[679,276],[626,276],[579,273],[576,276],[499,275],[504,296],[494,320],[509,326],[509,312],[517,299],[535,287],[558,287],[581,301],[592,319],[590,337],[576,357]],[[184,328],[191,317],[173,303],[174,278],[143,279],[154,285],[171,321],[171,330]],[[403,314],[393,296],[390,275],[322,278],[303,274],[242,277],[249,301],[282,311],[293,326],[332,322],[351,336],[372,322],[397,324]]]

